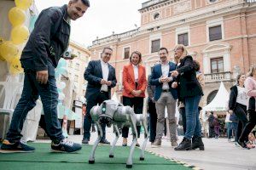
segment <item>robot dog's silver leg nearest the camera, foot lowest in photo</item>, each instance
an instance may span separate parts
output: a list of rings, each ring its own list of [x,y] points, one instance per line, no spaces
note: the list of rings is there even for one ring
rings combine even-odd
[[[133,140],[132,140],[132,143],[131,143],[130,154],[129,154],[129,157],[126,161],[126,167],[127,168],[132,167],[132,156],[133,156],[133,152],[134,152],[134,149],[135,149],[135,145],[137,143],[137,126],[136,126],[136,117],[134,116],[134,114],[130,115],[130,120],[131,120],[131,128],[132,128],[132,133],[133,133]]]

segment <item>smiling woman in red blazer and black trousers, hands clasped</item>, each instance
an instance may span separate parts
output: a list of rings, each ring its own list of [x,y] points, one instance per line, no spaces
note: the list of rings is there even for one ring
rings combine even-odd
[[[143,114],[143,99],[147,88],[145,67],[141,65],[142,54],[135,51],[131,54],[130,63],[123,69],[123,105],[130,105],[134,108],[135,114]],[[140,126],[137,126],[138,137],[140,136]],[[123,146],[127,145],[128,127],[123,127]],[[139,144],[136,144],[139,146]]]

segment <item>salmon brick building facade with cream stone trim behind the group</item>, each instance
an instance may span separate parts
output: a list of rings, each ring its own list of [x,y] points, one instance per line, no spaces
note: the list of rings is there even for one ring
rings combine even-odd
[[[143,54],[147,74],[159,59],[158,49],[182,43],[201,63],[205,75],[204,104],[218,91],[220,82],[230,88],[236,75],[256,63],[256,1],[254,0],[151,0],[139,9],[141,26],[135,30],[96,39],[91,59],[99,59],[102,48],[113,48],[121,94],[122,69],[132,51]],[[253,48],[254,47],[254,48]]]

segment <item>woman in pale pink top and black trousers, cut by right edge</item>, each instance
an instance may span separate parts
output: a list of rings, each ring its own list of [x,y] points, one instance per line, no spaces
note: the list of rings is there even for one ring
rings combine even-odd
[[[251,145],[248,141],[248,134],[251,133],[253,127],[255,127],[256,125],[256,65],[251,66],[247,76],[248,77],[244,83],[244,86],[246,88],[247,96],[249,98],[247,103],[248,122],[242,130],[241,136],[238,140],[238,144],[240,144],[243,148],[251,149]]]

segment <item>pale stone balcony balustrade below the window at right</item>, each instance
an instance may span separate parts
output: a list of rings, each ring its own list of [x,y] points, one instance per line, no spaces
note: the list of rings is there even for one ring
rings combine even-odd
[[[222,82],[222,81],[232,81],[232,73],[218,72],[212,74],[205,74],[205,82]]]

